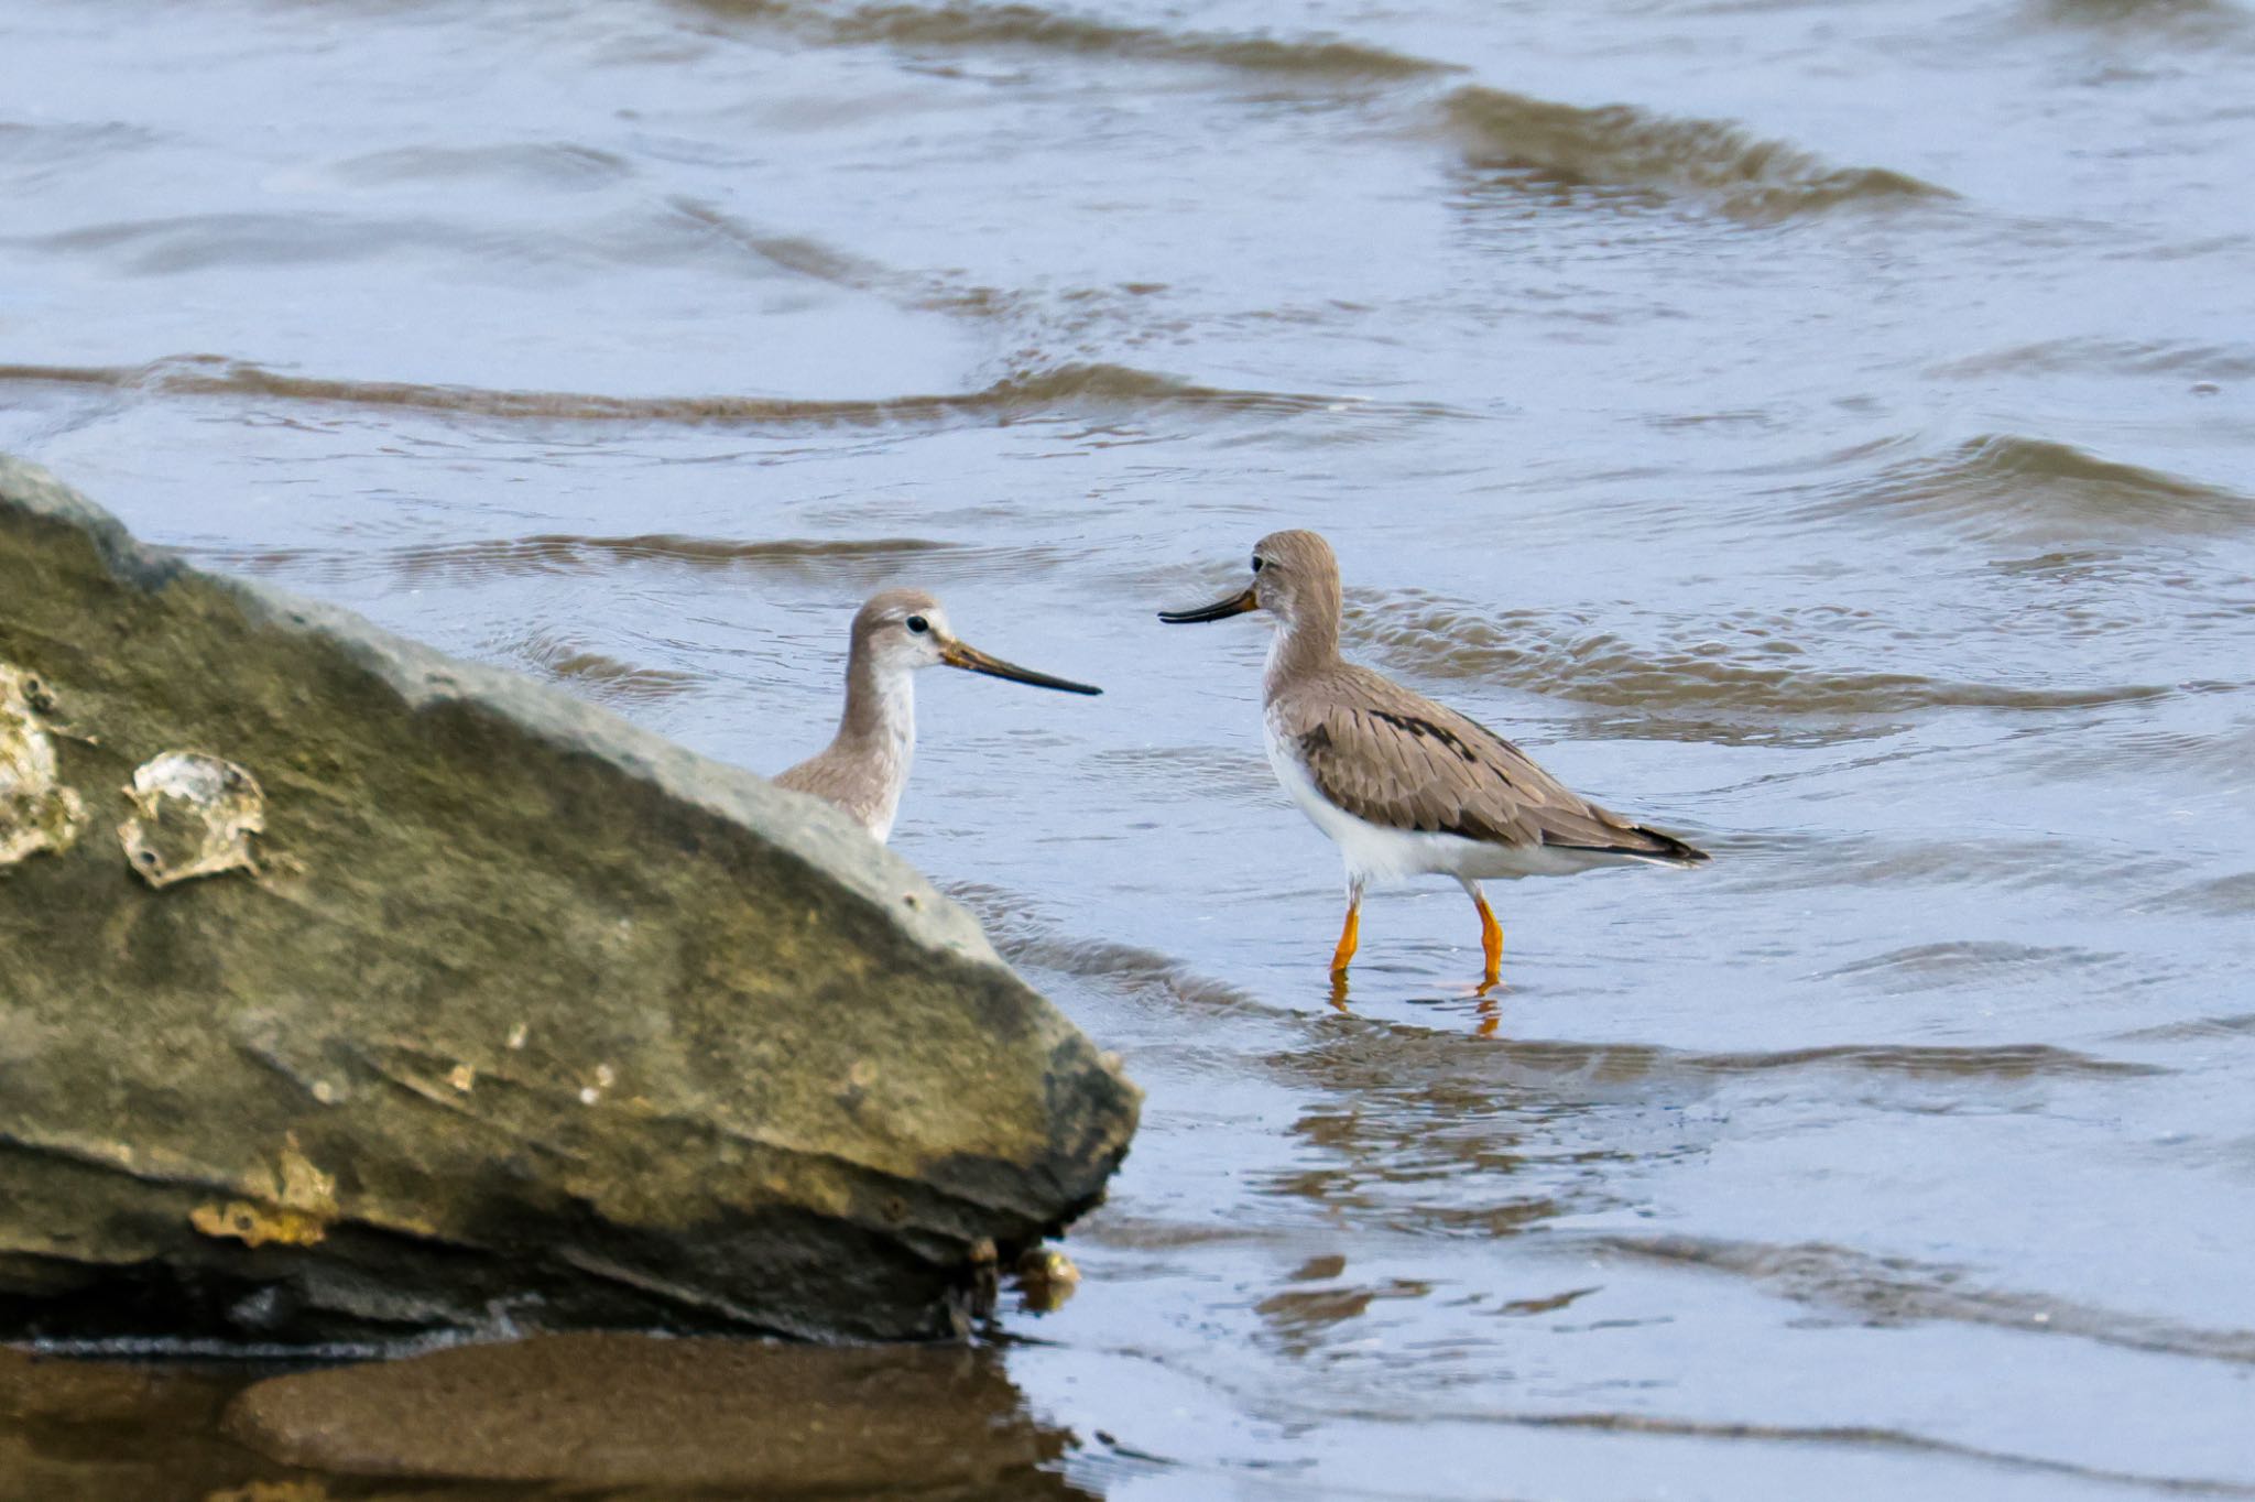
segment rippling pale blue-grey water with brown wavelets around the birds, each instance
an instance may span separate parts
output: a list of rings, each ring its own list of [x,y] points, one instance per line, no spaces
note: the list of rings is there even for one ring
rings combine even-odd
[[[895,846],[1150,1089],[1103,1497],[2255,1495],[2255,16],[0,0],[0,447]],[[1712,871],[1373,898],[1351,650]]]

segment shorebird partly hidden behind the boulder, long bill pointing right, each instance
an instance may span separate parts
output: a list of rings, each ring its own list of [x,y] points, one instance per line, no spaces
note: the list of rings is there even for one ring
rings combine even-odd
[[[776,787],[814,794],[855,816],[877,843],[893,834],[900,789],[909,785],[916,758],[916,670],[967,668],[997,679],[1015,679],[1069,695],[1100,695],[1100,688],[1053,679],[1017,668],[956,638],[947,611],[920,589],[888,589],[870,595],[852,618],[846,652],[846,713],[837,737],[776,776]]]

